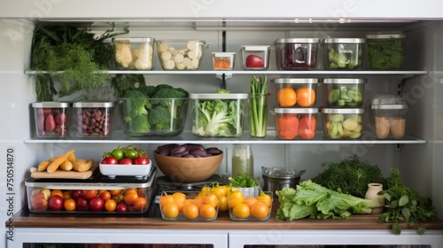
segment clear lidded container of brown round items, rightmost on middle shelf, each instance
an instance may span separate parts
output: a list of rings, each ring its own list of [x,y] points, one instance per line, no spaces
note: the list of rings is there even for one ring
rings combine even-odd
[[[376,94],[370,105],[372,131],[378,139],[403,138],[406,134],[408,103],[391,94]]]

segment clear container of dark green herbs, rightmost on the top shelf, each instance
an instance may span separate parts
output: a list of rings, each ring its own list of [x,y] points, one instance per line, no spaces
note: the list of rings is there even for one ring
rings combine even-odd
[[[404,34],[366,35],[369,70],[401,70],[407,38]]]

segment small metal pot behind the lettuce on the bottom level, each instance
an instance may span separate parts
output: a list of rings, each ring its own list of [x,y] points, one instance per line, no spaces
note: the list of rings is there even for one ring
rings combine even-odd
[[[276,198],[276,190],[295,188],[299,184],[300,176],[305,172],[305,170],[294,170],[291,168],[261,167],[263,190],[273,192]]]

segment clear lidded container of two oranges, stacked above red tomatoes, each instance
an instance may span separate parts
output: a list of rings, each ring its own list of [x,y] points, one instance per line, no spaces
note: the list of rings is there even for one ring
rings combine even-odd
[[[317,78],[276,78],[276,104],[279,107],[312,107],[316,101]]]

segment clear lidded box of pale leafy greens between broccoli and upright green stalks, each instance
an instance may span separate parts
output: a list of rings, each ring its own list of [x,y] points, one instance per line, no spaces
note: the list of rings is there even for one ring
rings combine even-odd
[[[206,137],[241,136],[244,130],[245,114],[247,113],[247,100],[247,93],[190,94],[192,134]],[[217,109],[223,108],[227,108],[229,120],[215,124],[213,118],[217,116],[217,113],[220,113]],[[207,112],[202,112],[202,110]]]

